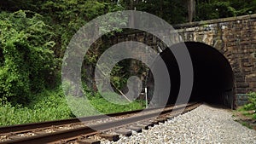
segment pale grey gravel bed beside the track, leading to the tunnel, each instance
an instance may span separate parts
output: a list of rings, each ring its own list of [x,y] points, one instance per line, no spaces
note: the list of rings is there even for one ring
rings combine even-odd
[[[201,105],[191,112],[155,125],[143,133],[133,132],[131,137],[120,136],[120,140],[102,143],[253,143],[256,131],[233,120],[232,113],[221,108]]]

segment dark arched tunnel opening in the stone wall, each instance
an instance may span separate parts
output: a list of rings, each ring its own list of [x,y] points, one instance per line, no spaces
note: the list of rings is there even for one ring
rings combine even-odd
[[[185,43],[194,69],[194,85],[189,101],[205,101],[211,104],[233,108],[234,74],[229,61],[217,49],[204,43]],[[177,43],[171,49],[183,46]],[[171,78],[171,92],[168,104],[175,103],[180,86],[177,60],[170,49],[160,56],[166,62]]]

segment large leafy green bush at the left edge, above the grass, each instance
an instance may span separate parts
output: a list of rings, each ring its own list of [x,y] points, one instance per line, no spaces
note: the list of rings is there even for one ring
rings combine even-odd
[[[26,11],[0,14],[0,94],[23,103],[30,92],[44,89],[53,77],[53,33],[41,15]]]

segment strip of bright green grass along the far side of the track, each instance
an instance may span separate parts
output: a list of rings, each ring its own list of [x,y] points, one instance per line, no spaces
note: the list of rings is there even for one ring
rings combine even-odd
[[[88,95],[89,102],[100,113],[125,112],[144,108],[143,101],[133,101],[128,105],[111,104],[101,95]],[[44,92],[33,95],[32,100],[26,105],[13,106],[7,101],[0,100],[0,125],[26,124],[56,119],[74,118],[95,115],[96,112],[89,111],[91,106],[84,106],[83,101],[75,103],[78,107],[75,112],[67,104],[66,97],[61,88],[44,90]],[[69,102],[70,104],[70,102]],[[81,107],[84,106],[84,107]],[[99,114],[100,114],[99,113]]]

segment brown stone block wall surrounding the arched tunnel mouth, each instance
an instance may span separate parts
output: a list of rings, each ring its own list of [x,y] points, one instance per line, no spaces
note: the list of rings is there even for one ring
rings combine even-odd
[[[256,14],[205,20],[173,26],[184,42],[206,43],[224,55],[234,72],[234,107],[247,101],[256,91]],[[127,32],[112,43],[138,41],[157,49],[157,38],[147,32]],[[142,54],[143,55],[143,54]]]

